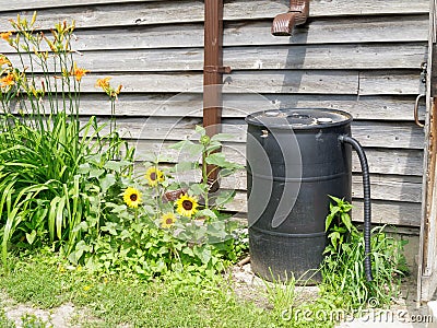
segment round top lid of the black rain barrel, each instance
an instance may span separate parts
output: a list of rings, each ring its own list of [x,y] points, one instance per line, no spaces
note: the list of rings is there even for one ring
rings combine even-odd
[[[246,117],[249,125],[284,129],[320,129],[351,121],[352,116],[349,113],[329,108],[269,109]]]

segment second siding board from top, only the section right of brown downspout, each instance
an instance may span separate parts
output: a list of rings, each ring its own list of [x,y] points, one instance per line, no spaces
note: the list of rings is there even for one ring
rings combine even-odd
[[[310,19],[291,37],[272,36],[271,21],[229,22],[225,46],[426,42],[428,15]]]

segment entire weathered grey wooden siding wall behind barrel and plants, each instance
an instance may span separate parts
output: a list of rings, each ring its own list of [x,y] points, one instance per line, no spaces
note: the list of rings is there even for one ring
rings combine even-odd
[[[418,226],[424,134],[413,122],[413,104],[423,92],[428,0],[312,0],[306,25],[292,38],[273,37],[272,20],[287,4],[225,0],[224,63],[233,71],[224,77],[223,130],[235,139],[224,151],[244,164],[244,117],[250,112],[347,110],[370,165],[374,221]],[[139,157],[158,150],[163,139],[191,136],[201,122],[203,1],[2,0],[0,8],[1,31],[10,30],[8,19],[34,10],[40,28],[75,20],[75,48],[83,54],[76,60],[92,71],[82,86],[82,113],[109,115],[94,82],[114,77],[123,85],[118,126],[138,144]],[[0,51],[10,49],[1,43]],[[356,157],[353,171],[359,220]],[[240,190],[232,209],[245,211],[245,174],[223,186]]]

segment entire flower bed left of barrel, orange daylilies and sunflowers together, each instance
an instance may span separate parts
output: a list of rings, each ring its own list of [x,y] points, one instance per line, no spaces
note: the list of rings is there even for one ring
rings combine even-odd
[[[17,16],[2,35],[20,58],[0,55],[0,237],[2,262],[10,250],[55,245],[75,266],[145,279],[167,272],[222,271],[246,249],[237,221],[221,213],[235,191],[210,202],[208,165],[225,176],[241,168],[216,152],[220,140],[197,127],[199,142],[174,145],[198,161],[162,172],[157,159],[144,163],[146,178],[133,177],[133,150],[114,119],[121,86],[110,78],[96,85],[109,96],[109,134],[95,117],[79,116],[82,78],[73,60],[74,23],[58,23],[51,36]],[[45,49],[49,48],[49,51]],[[212,166],[211,166],[212,167]],[[179,183],[173,174],[199,169],[202,181]],[[214,183],[214,181],[213,181]],[[179,192],[167,199],[167,192]]]

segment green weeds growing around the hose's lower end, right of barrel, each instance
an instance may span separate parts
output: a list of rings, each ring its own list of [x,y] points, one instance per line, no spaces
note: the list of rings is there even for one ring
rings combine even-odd
[[[352,225],[349,211],[352,206],[331,197],[327,231],[330,244],[321,267],[322,294],[331,295],[340,308],[366,307],[369,300],[378,305],[389,305],[398,294],[400,279],[404,276],[402,255],[404,243],[389,236],[383,226],[371,230],[371,267],[374,281],[368,282],[364,270],[364,236]]]

